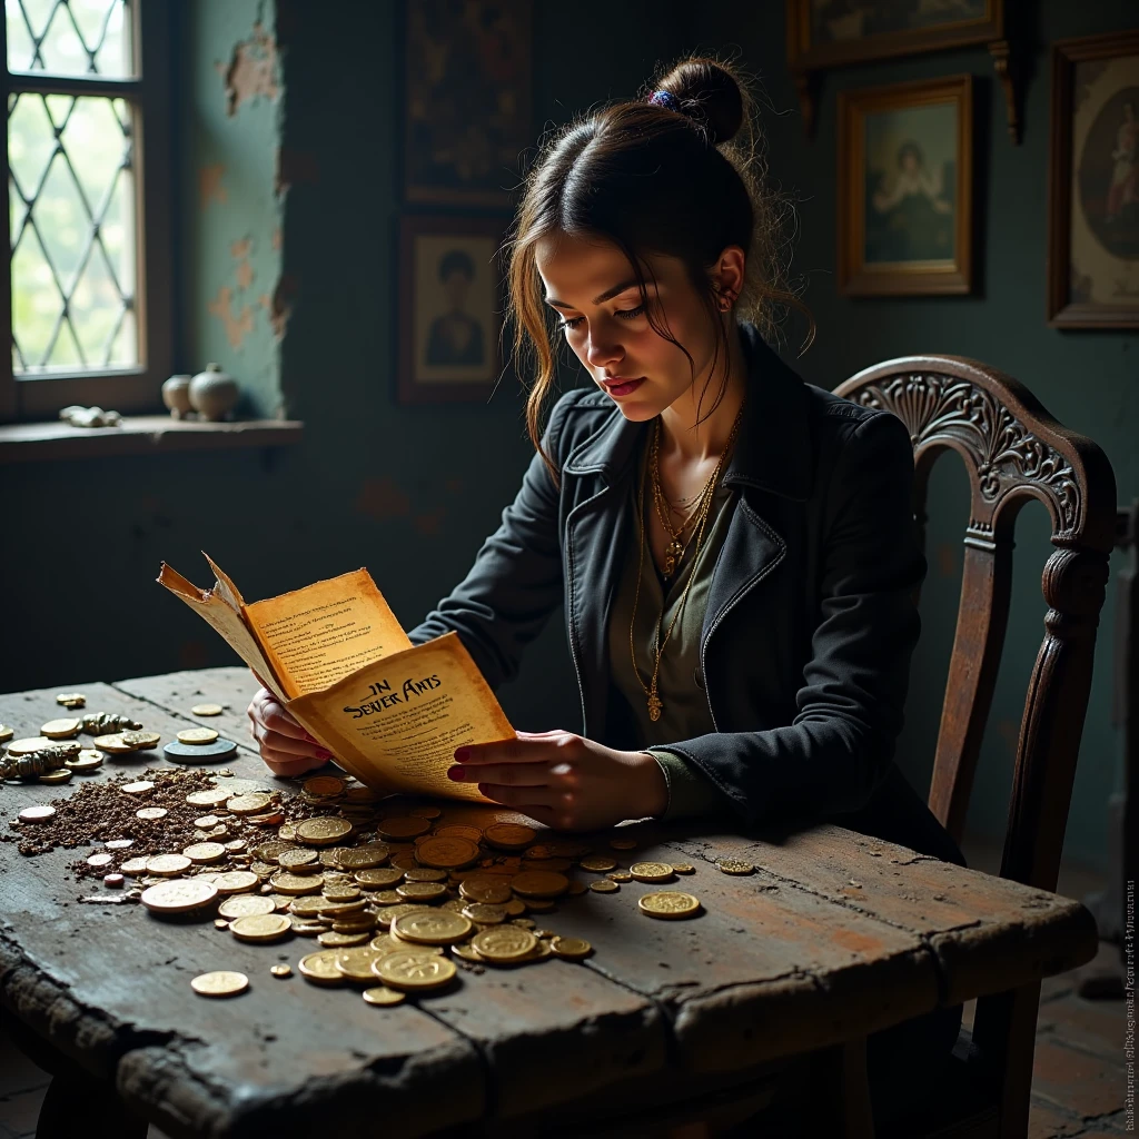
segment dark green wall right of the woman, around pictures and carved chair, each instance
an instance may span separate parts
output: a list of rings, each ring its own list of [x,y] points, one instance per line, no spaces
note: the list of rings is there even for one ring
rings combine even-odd
[[[1133,334],[1057,331],[1044,323],[1050,44],[1139,25],[1133,0],[1040,0],[1027,26],[1031,81],[1024,139],[1014,147],[1005,103],[984,47],[829,72],[823,80],[813,141],[808,141],[784,57],[784,5],[712,5],[699,9],[693,47],[741,51],[759,73],[769,106],[764,124],[772,175],[798,199],[801,236],[795,268],[808,281],[804,300],[818,341],[795,361],[802,328],[788,330],[784,352],[811,383],[835,387],[868,364],[917,352],[973,357],[1025,383],[1062,423],[1095,439],[1115,467],[1121,503],[1139,494],[1134,445],[1139,408],[1139,341]],[[982,227],[977,288],[968,297],[849,298],[838,295],[836,248],[836,92],[904,80],[970,72],[977,76],[975,214]],[[964,468],[947,457],[934,470],[928,534],[929,575],[924,630],[915,656],[912,695],[900,747],[903,769],[928,789],[949,652],[960,589],[961,542],[968,519]],[[1040,573],[1051,549],[1044,508],[1032,503],[1017,530],[1017,568],[1005,657],[983,746],[968,827],[1003,833],[1013,757],[1025,686],[1043,633]],[[1122,558],[1112,560],[1113,574]],[[1114,597],[1100,624],[1095,687],[1083,734],[1065,857],[1106,861],[1105,810],[1120,775],[1120,741],[1111,726]]]

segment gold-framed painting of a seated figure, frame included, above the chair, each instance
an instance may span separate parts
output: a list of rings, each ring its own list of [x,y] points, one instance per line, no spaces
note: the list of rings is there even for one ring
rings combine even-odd
[[[973,76],[838,93],[838,286],[847,296],[973,285]]]

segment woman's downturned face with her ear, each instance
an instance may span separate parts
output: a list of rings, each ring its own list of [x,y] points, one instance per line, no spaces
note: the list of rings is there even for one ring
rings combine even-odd
[[[679,259],[645,260],[656,274],[655,286],[646,280],[654,318],[691,353],[698,399],[712,364],[715,326]],[[565,235],[543,238],[536,263],[566,343],[626,419],[652,419],[693,390],[688,358],[653,330],[632,268],[615,245]],[[718,371],[722,350],[720,357]]]

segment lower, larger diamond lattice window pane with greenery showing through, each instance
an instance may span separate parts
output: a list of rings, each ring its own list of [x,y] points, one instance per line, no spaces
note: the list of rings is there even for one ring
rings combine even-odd
[[[132,137],[122,99],[9,100],[17,375],[139,362]]]

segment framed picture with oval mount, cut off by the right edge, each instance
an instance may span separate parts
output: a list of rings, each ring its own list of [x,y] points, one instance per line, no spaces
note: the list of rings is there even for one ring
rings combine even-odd
[[[1048,323],[1139,328],[1139,31],[1052,47]]]

